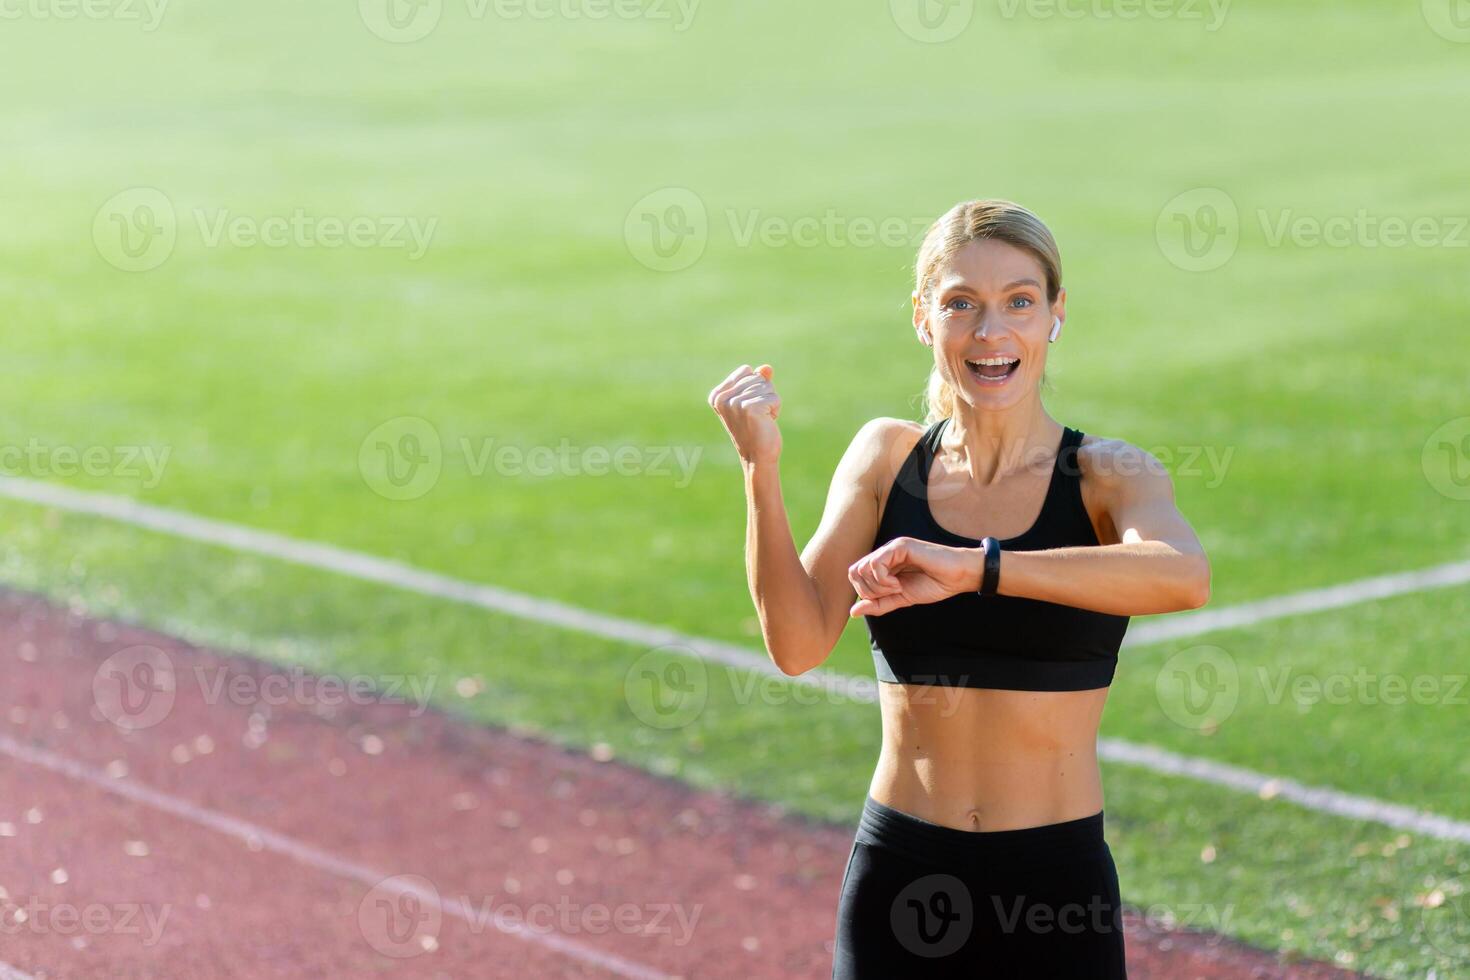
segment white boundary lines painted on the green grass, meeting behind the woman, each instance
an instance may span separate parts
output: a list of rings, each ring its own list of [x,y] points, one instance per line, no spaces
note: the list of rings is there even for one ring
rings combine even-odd
[[[689,636],[663,626],[606,616],[492,585],[466,582],[437,572],[416,569],[401,561],[378,558],[335,545],[300,541],[268,530],[197,517],[184,511],[153,507],[151,504],[140,504],[126,497],[75,491],[16,476],[0,478],[0,497],[56,507],[57,510],[75,514],[106,517],[175,538],[323,569],[368,582],[465,602],[494,613],[516,616],[557,629],[575,630],[637,646],[676,646],[681,652],[706,661],[739,670],[773,674],[791,683],[825,688],[841,692],[854,701],[878,701],[878,685],[872,677],[851,677],[828,670],[811,670],[800,677],[788,677],[763,652],[756,652],[745,646]],[[1273,599],[1245,602],[1222,610],[1188,613],[1170,617],[1169,620],[1138,623],[1130,629],[1127,645],[1139,646],[1163,641],[1188,639],[1217,629],[1252,626],[1288,616],[1322,613],[1358,602],[1424,589],[1449,588],[1467,582],[1470,582],[1470,561],[1452,561],[1420,572],[1360,579],[1324,589],[1294,592]],[[1194,779],[1257,795],[1269,796],[1274,792],[1282,799],[1289,799],[1297,805],[1319,813],[1408,829],[1445,840],[1470,842],[1470,824],[1398,804],[1355,796],[1335,789],[1302,786],[1289,779],[1266,776],[1205,758],[1179,755],[1152,745],[1139,745],[1123,739],[1100,739],[1098,752],[1107,761],[1136,765],[1167,776]]]

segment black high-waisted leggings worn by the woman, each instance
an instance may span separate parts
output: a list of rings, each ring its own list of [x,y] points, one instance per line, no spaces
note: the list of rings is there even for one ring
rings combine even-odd
[[[1102,813],[957,830],[872,796],[838,902],[833,980],[1126,977]]]

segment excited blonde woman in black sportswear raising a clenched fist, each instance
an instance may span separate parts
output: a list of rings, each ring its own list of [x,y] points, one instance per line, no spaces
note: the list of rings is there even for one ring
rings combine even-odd
[[[858,430],[800,555],[770,366],[710,392],[772,660],[811,670],[863,616],[881,682],[833,977],[1125,976],[1098,721],[1127,617],[1202,605],[1210,564],[1157,460],[1042,406],[1066,319],[1035,215],[967,201],[935,222],[913,292],[926,425]]]

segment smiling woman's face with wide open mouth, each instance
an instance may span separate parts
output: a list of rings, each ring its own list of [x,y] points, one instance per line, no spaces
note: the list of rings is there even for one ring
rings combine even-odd
[[[1047,273],[1029,251],[972,241],[938,269],[928,297],[914,295],[914,329],[964,403],[1008,408],[1036,394],[1066,298],[1047,301]]]

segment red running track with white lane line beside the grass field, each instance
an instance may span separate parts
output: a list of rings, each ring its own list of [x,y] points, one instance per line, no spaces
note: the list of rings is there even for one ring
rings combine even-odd
[[[850,827],[0,595],[0,980],[828,977]],[[1129,920],[1133,977],[1344,977]]]

